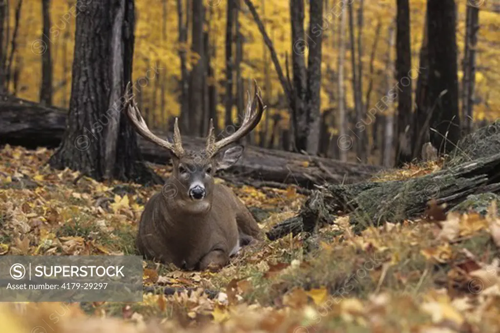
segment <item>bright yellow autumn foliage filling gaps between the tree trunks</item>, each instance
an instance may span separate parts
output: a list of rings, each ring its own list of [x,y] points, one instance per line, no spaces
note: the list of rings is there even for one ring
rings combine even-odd
[[[68,107],[69,94],[71,87],[71,66],[73,60],[74,48],[74,30],[76,17],[74,1],[52,0],[50,2],[51,34],[50,46],[53,62],[53,85],[54,85],[54,104],[61,107]],[[185,4],[185,0],[182,1]],[[489,1],[481,4],[477,44],[477,73],[476,73],[476,96],[481,100],[479,105],[475,106],[475,117],[493,118],[498,116],[494,111],[500,109],[500,92],[492,87],[498,86],[500,82],[500,49],[497,47],[497,41],[500,40],[500,29],[498,22],[500,17],[497,13],[489,10]],[[214,2],[215,3],[215,2]],[[209,31],[212,66],[214,67],[215,82],[219,93],[224,91],[225,76],[225,16],[226,1],[216,1],[218,5],[213,7],[206,6],[207,23],[204,29]],[[255,0],[254,4],[257,11],[264,21],[266,30],[276,49],[276,54],[281,67],[285,67],[285,58],[290,58],[291,36],[289,24],[289,1],[276,0],[265,1],[265,7],[262,1]],[[359,5],[358,1],[353,2],[354,9]],[[411,28],[411,51],[412,67],[418,68],[418,54],[422,41],[423,23],[425,14],[425,0],[410,0],[410,28]],[[270,60],[269,52],[262,41],[262,36],[258,28],[242,3],[242,11],[239,14],[239,23],[241,33],[244,39],[243,57],[244,62],[241,66],[241,74],[245,80],[245,88],[248,86],[248,79],[256,79],[263,88],[264,99],[267,103],[275,102],[277,96],[282,94],[282,88],[275,73],[274,65]],[[160,78],[164,83],[164,112],[168,115],[178,115],[178,81],[180,78],[180,60],[179,50],[186,51],[188,69],[196,63],[199,56],[190,50],[191,36],[188,33],[187,43],[178,42],[177,12],[176,1],[174,0],[136,0],[136,27],[135,27],[135,46],[133,59],[132,77],[137,79],[144,76],[146,71],[157,64],[163,68]],[[457,2],[457,48],[458,63],[461,67],[463,56],[464,29],[465,29],[465,2]],[[13,28],[13,11],[15,6],[9,6],[10,26]],[[305,31],[309,35],[308,28],[308,10],[305,10]],[[166,17],[164,15],[166,14]],[[325,21],[322,30],[323,33],[323,63],[322,63],[322,82],[321,82],[321,108],[335,108],[335,96],[337,94],[336,73],[338,63],[338,6],[336,2],[327,1],[324,10]],[[393,24],[395,16],[394,1],[365,1],[364,4],[364,25],[362,27],[363,44],[363,90],[372,80],[372,101],[378,100],[381,96],[380,91],[386,90],[386,54],[388,47],[388,27]],[[17,36],[17,54],[14,57],[12,68],[18,67],[19,83],[18,96],[29,100],[38,100],[39,85],[41,81],[41,56],[37,50],[37,42],[41,36],[41,3],[40,1],[23,1],[20,16],[19,33]],[[376,25],[380,22],[380,36],[375,49],[373,60],[373,74],[369,73],[370,53],[375,40]],[[357,30],[357,27],[355,27]],[[346,27],[348,33],[348,26]],[[305,38],[309,40],[309,38]],[[348,38],[347,38],[348,39]],[[348,46],[348,45],[347,45]],[[305,49],[305,56],[307,55]],[[391,58],[395,58],[394,50],[390,50]],[[353,107],[353,90],[351,80],[351,62],[350,48],[345,49],[345,75],[344,86],[346,89],[346,105]],[[333,72],[334,76],[326,74]],[[269,73],[269,81],[265,84],[266,73]],[[166,77],[161,77],[166,75]],[[459,72],[461,77],[461,71]],[[144,87],[143,98],[150,101],[156,99],[156,109],[153,111],[159,122],[164,122],[166,117],[159,117],[163,112],[161,110],[161,89],[160,84],[154,82],[157,79],[150,79]],[[222,83],[222,85],[221,85]],[[10,90],[13,89],[12,82]],[[416,84],[413,84],[413,88]],[[265,89],[264,89],[265,88]],[[363,99],[365,98],[363,94]],[[365,102],[365,101],[364,101]],[[149,105],[151,105],[149,103]],[[222,116],[224,107],[222,104],[217,106],[217,112]],[[267,114],[270,114],[269,112]],[[264,114],[264,117],[266,115]],[[221,121],[222,124],[222,121]],[[220,124],[220,125],[221,125]]]

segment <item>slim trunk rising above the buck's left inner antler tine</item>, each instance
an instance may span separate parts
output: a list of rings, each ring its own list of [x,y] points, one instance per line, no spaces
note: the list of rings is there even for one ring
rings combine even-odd
[[[189,2],[189,1],[187,1]],[[186,66],[186,44],[187,44],[187,18],[184,23],[184,14],[182,0],[177,0],[177,19],[178,19],[178,42],[182,45],[179,48],[180,58],[180,127],[184,133],[189,132],[189,102],[187,82],[188,72]]]

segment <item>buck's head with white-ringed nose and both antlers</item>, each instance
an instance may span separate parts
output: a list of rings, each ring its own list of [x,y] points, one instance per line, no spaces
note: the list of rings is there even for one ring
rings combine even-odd
[[[248,134],[262,117],[265,106],[260,98],[260,89],[256,82],[254,84],[253,99],[250,99],[250,93],[247,92],[247,104],[241,126],[234,133],[217,141],[213,120],[210,119],[206,146],[199,151],[185,150],[182,147],[177,118],[173,127],[172,142],[154,135],[140,115],[133,94],[130,94],[130,83],[127,84],[125,105],[128,105],[128,118],[142,137],[170,152],[173,171],[169,181],[170,185],[175,187],[174,200],[184,210],[191,213],[205,213],[209,210],[215,172],[230,167],[241,157],[243,146],[236,145],[226,150],[223,148]]]

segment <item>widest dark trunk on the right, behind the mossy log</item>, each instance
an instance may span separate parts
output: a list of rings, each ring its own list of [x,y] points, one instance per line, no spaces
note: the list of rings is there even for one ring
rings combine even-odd
[[[428,0],[430,142],[448,153],[460,137],[454,0]]]

